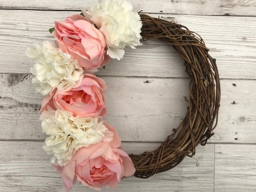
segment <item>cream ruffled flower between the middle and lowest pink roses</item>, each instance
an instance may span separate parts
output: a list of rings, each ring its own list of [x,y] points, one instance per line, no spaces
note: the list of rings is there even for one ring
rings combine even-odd
[[[74,152],[98,142],[111,142],[114,132],[104,126],[101,118],[77,118],[62,110],[45,111],[40,116],[42,128],[48,137],[44,150],[53,155],[51,162],[57,166],[67,165]]]

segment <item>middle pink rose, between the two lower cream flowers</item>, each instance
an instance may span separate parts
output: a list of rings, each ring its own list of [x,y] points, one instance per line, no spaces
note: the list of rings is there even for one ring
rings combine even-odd
[[[42,101],[40,112],[61,109],[74,116],[98,117],[106,115],[104,91],[107,86],[103,79],[94,75],[84,75],[80,86],[70,91],[54,89]]]

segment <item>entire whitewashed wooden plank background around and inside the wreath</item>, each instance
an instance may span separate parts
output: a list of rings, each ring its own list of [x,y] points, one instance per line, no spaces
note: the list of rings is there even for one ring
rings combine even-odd
[[[63,192],[61,176],[42,149],[42,96],[33,89],[24,51],[54,40],[48,29],[97,0],[0,0],[0,192]],[[206,146],[174,169],[124,179],[122,192],[256,191],[256,0],[131,0],[135,10],[175,20],[199,33],[216,58],[222,100]],[[127,152],[155,149],[185,116],[189,79],[183,60],[163,43],[126,49],[98,76],[107,85],[106,120]],[[135,86],[136,85],[136,86]],[[199,166],[197,165],[197,162]],[[76,184],[72,192],[91,191]],[[103,189],[103,191],[112,191]]]

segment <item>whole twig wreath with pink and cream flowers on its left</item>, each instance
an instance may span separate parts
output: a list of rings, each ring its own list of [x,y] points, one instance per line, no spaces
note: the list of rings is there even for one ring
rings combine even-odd
[[[216,60],[202,38],[174,21],[132,12],[126,0],[99,1],[66,20],[56,21],[50,32],[54,42],[27,48],[35,61],[31,68],[35,89],[45,95],[40,109],[47,138],[44,150],[67,192],[78,180],[100,190],[115,188],[123,177],[148,178],[178,165],[195,147],[205,145],[216,127],[220,83]],[[116,129],[104,121],[103,79],[94,74],[111,58],[121,60],[126,46],[159,40],[172,45],[185,60],[191,78],[188,111],[172,135],[152,152],[126,154]]]

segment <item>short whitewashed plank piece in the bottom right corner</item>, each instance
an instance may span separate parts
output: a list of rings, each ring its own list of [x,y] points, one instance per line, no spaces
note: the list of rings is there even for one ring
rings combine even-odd
[[[215,192],[255,190],[256,145],[216,144]]]

